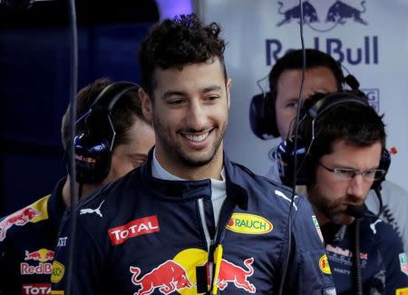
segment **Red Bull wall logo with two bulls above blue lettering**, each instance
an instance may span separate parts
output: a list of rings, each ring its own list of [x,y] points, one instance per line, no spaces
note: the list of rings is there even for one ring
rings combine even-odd
[[[298,26],[300,22],[300,5],[297,0],[279,0],[276,3],[277,15],[281,19],[277,22],[278,28],[289,24]],[[305,0],[302,4],[304,24],[316,31],[315,36],[307,37],[306,47],[323,51],[335,58],[341,64],[379,64],[380,40],[377,35],[367,34],[368,21],[365,1],[353,0]],[[327,36],[329,31],[341,25],[343,28],[362,29],[361,37],[342,38],[341,35]],[[332,32],[335,32],[332,31]],[[340,31],[341,32],[341,31]],[[347,34],[341,33],[346,36]],[[276,32],[275,34],[276,35]],[[277,38],[266,39],[266,64],[275,64],[276,60],[294,49],[285,46],[283,40]],[[296,46],[297,49],[297,46]]]

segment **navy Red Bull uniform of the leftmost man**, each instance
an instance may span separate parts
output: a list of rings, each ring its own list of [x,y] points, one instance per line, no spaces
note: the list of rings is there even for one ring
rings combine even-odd
[[[0,294],[50,294],[65,179],[53,193],[0,220]]]

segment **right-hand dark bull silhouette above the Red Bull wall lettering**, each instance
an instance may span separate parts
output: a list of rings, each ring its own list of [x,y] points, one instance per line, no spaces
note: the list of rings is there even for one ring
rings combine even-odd
[[[327,17],[325,18],[326,22],[334,22],[341,25],[345,25],[345,18],[352,18],[356,23],[363,25],[368,25],[361,14],[365,12],[365,1],[361,2],[363,10],[358,10],[353,6],[347,5],[340,0],[335,1],[334,5],[331,5]]]

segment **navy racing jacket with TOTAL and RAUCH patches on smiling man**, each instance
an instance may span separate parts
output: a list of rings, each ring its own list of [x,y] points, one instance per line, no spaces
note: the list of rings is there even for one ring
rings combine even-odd
[[[153,177],[152,153],[80,202],[70,281],[63,272],[71,242],[65,213],[52,292],[70,283],[73,294],[277,293],[289,249],[287,189],[224,157],[227,196],[215,217],[211,180]],[[291,212],[285,293],[334,294],[310,204],[296,197]]]

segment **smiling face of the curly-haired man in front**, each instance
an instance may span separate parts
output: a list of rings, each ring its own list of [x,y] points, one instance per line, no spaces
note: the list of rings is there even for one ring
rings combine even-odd
[[[160,164],[182,178],[209,177],[211,167],[222,165],[221,143],[228,123],[231,82],[228,79],[226,85],[222,65],[215,59],[182,68],[156,68],[154,81],[153,97],[146,93],[141,97],[143,112],[156,131]],[[209,171],[194,177],[188,172],[203,167]]]

